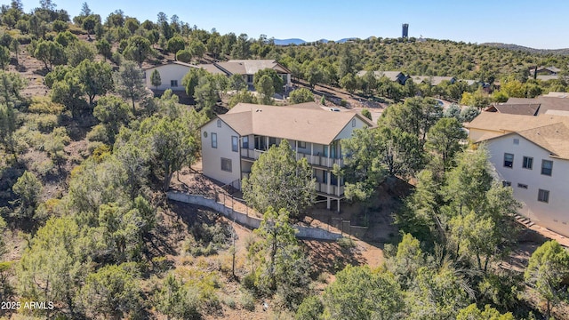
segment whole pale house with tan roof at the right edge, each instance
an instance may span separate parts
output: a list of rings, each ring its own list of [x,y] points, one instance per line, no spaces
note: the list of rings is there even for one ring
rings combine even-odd
[[[483,112],[467,127],[513,189],[519,213],[569,236],[569,117]]]

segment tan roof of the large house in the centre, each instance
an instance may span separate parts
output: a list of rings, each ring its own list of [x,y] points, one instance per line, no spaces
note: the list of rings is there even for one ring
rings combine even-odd
[[[326,111],[316,102],[285,107],[239,103],[218,117],[241,136],[258,134],[324,145],[336,140],[354,117],[373,126],[357,113]]]

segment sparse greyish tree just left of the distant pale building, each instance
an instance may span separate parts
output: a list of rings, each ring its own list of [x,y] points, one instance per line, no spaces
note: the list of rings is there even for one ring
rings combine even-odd
[[[142,70],[131,61],[124,61],[116,73],[116,92],[132,101],[132,114],[136,114],[134,101],[145,94]]]

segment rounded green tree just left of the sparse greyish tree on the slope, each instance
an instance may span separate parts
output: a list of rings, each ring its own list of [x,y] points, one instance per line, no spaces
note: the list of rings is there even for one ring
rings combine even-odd
[[[112,68],[107,62],[83,60],[75,72],[91,106],[96,96],[105,95],[113,88]]]

